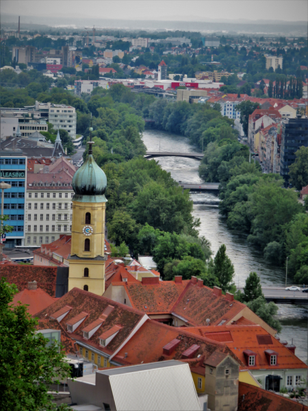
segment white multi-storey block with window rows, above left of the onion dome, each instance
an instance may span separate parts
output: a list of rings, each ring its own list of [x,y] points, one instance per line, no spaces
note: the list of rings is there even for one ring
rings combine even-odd
[[[75,140],[77,113],[75,107],[65,104],[40,103],[36,101],[36,110],[42,116],[48,117],[49,123],[55,130],[64,129],[68,135]]]

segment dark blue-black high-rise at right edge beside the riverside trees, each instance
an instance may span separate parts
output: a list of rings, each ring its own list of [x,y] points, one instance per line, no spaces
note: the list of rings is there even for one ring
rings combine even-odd
[[[282,123],[280,175],[289,184],[289,167],[296,159],[296,151],[300,147],[308,147],[308,119],[297,116],[297,119],[287,119]]]

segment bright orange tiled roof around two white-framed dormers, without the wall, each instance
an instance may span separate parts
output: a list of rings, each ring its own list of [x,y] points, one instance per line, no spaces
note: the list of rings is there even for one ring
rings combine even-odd
[[[261,325],[221,325],[188,327],[192,334],[227,345],[248,369],[306,369],[307,365],[279,340],[268,334]],[[270,365],[266,350],[277,353],[277,365]],[[244,351],[257,354],[255,366],[249,366]]]

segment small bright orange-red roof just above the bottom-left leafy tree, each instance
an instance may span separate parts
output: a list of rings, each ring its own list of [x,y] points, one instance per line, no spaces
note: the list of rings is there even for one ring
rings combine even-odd
[[[55,302],[55,299],[41,288],[36,288],[36,290],[28,290],[25,288],[23,291],[14,295],[13,305],[17,306],[18,301],[21,301],[22,304],[29,304],[27,310],[29,314],[33,315],[50,306]]]

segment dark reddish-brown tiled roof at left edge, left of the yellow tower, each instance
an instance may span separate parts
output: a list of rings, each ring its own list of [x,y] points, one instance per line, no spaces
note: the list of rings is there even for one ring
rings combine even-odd
[[[5,264],[1,265],[0,277],[4,277],[10,284],[16,284],[19,291],[28,288],[28,282],[36,281],[39,288],[55,297],[57,267]]]

